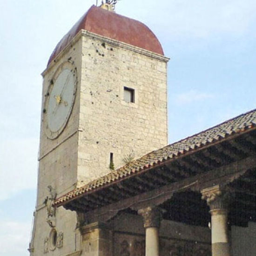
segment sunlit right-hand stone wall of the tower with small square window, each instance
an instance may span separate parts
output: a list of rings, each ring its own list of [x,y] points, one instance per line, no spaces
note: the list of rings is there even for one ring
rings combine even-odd
[[[166,62],[83,37],[78,181],[85,184],[125,158],[167,144]],[[123,100],[124,87],[135,102]]]

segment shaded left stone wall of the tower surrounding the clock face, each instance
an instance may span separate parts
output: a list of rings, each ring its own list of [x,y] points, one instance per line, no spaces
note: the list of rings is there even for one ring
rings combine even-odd
[[[57,195],[60,196],[74,189],[77,182],[80,94],[76,94],[71,115],[59,137],[54,140],[48,139],[44,127],[46,122],[46,113],[44,113],[44,109],[46,108],[45,100],[51,79],[57,68],[63,62],[68,61],[68,59],[74,61],[74,66],[77,68],[77,90],[79,90],[81,81],[81,38],[72,47],[69,47],[56,60],[55,64],[48,67],[43,74],[38,192],[34,219],[34,236],[32,237],[32,246],[34,247],[33,256],[68,255],[77,249],[75,243],[76,213],[67,211],[62,207],[56,209],[56,226],[54,229],[57,232],[57,244],[53,248],[50,237],[50,232],[53,229],[47,223],[47,207],[44,203],[47,196],[50,196],[47,189],[48,185],[56,189]],[[79,239],[80,236],[77,240]]]

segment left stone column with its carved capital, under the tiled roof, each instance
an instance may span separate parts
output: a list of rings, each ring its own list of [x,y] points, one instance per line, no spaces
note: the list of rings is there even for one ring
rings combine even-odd
[[[146,256],[159,256],[159,228],[162,220],[161,210],[157,207],[140,209],[146,229]]]

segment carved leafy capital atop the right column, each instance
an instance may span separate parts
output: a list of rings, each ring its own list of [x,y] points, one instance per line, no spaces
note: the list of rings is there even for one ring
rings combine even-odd
[[[220,189],[220,186],[216,185],[214,187],[202,189],[201,193],[202,199],[206,200],[212,214],[214,214],[216,210],[218,213],[228,211],[231,202],[231,194],[229,190]]]

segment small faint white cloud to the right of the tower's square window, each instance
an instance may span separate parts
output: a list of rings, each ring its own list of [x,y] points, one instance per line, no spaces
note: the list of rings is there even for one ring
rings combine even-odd
[[[189,104],[195,101],[204,101],[214,98],[213,94],[197,92],[195,90],[189,90],[181,94],[174,95],[175,103],[178,105]]]

